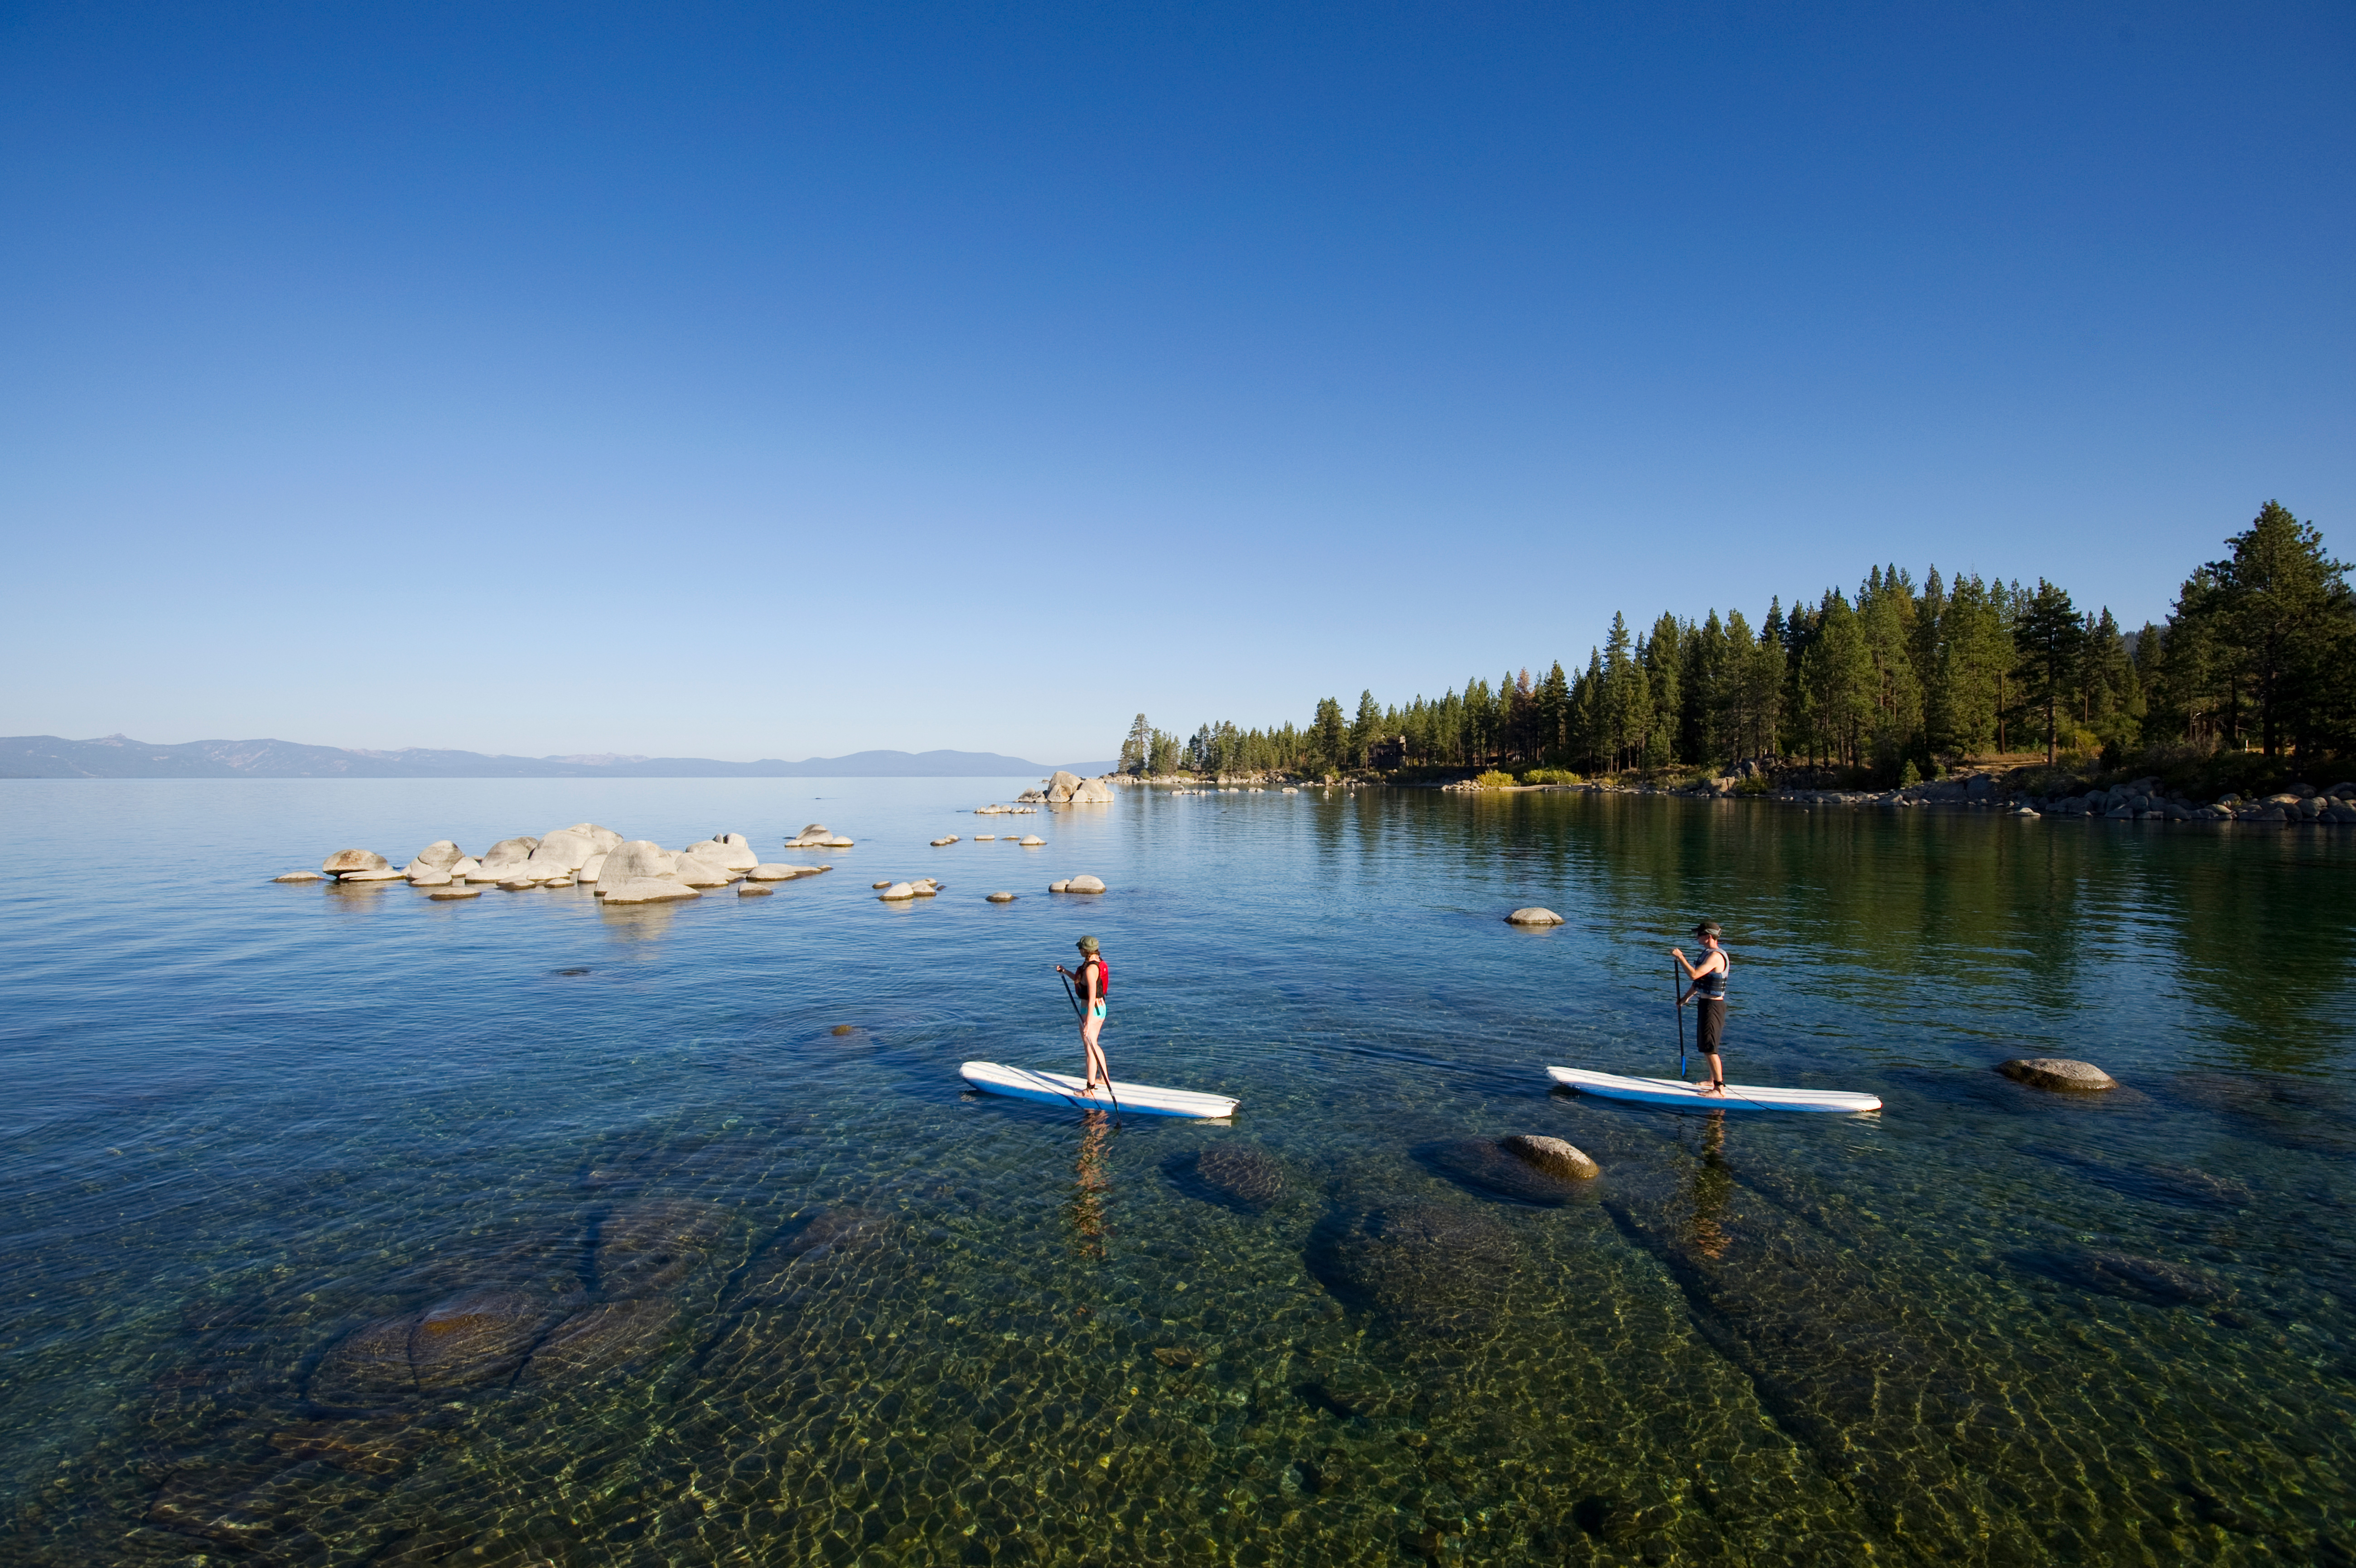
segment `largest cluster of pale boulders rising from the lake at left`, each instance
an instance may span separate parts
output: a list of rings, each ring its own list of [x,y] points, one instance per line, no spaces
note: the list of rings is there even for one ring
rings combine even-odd
[[[841,841],[848,843],[848,841]],[[393,866],[372,850],[337,850],[320,871],[294,871],[280,883],[332,876],[344,883],[408,881],[436,899],[471,899],[485,888],[573,888],[594,885],[608,904],[660,904],[693,899],[704,888],[728,883],[785,883],[818,876],[832,866],[787,866],[763,862],[744,833],[714,833],[683,850],[664,850],[646,838],[622,838],[594,822],[575,822],[542,838],[502,838],[481,859],[448,838],[429,843],[405,866]]]

